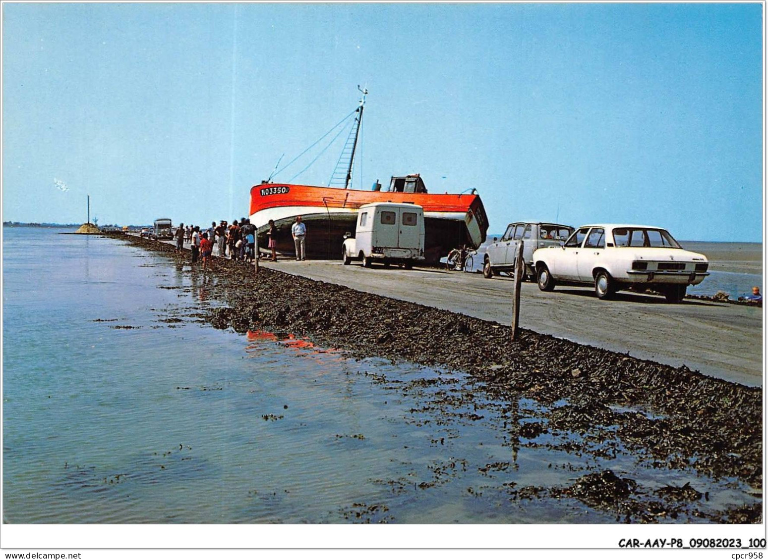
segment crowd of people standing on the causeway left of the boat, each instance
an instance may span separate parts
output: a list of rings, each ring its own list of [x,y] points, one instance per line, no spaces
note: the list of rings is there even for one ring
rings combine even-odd
[[[267,248],[272,252],[270,260],[277,261],[277,241],[279,231],[275,221],[270,219],[269,229],[266,232],[268,238]],[[291,236],[296,248],[296,260],[306,260],[306,225],[301,216],[296,216],[296,222],[291,226]],[[221,220],[217,225],[211,222],[207,229],[200,229],[200,226],[184,226],[180,223],[174,232],[176,240],[176,252],[184,250],[184,242],[192,245],[192,262],[201,260],[203,268],[213,270],[214,268],[214,247],[217,250],[217,256],[224,259],[229,257],[231,260],[240,262],[253,262],[256,255],[256,226],[250,223],[250,219],[241,218],[240,222],[233,220],[231,225],[227,220]]]

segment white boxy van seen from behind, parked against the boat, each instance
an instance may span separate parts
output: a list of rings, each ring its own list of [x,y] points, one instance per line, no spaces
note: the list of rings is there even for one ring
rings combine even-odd
[[[411,268],[424,260],[424,209],[415,204],[372,203],[360,206],[356,237],[344,239],[342,259],[369,267],[371,262]]]

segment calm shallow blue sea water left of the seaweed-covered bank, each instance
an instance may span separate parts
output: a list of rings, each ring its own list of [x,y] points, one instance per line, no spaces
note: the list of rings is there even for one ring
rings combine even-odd
[[[616,522],[518,496],[596,469],[690,482],[703,511],[755,501],[732,480],[546,446],[574,434],[514,439],[510,404],[461,372],[217,331],[197,316],[220,305],[214,279],[56,233],[4,230],[4,522]],[[541,408],[514,407],[523,422]]]

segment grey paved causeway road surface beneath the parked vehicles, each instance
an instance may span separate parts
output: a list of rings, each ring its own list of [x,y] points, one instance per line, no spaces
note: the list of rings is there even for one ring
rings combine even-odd
[[[282,260],[261,265],[315,280],[457,311],[502,324],[511,322],[511,278],[435,268],[362,268],[353,262]],[[619,292],[600,301],[588,287],[541,292],[522,285],[520,326],[673,366],[687,365],[741,384],[763,383],[761,308]]]

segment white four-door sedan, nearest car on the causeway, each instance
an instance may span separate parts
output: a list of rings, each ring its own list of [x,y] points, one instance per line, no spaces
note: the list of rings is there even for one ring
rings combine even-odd
[[[709,274],[706,256],[686,251],[656,226],[581,226],[560,247],[537,249],[533,260],[539,289],[594,284],[601,299],[634,287],[657,290],[674,303]]]

